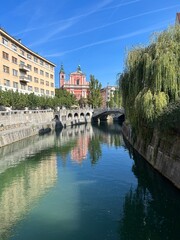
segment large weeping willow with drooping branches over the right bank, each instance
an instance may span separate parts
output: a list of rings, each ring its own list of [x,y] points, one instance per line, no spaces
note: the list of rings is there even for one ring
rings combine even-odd
[[[180,99],[180,26],[154,33],[148,46],[130,50],[119,81],[132,127],[152,126]]]

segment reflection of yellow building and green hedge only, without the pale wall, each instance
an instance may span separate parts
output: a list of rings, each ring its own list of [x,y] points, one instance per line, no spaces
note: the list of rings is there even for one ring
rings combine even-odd
[[[56,156],[31,158],[7,169],[0,175],[0,239],[35,205],[57,178]],[[40,157],[40,158],[41,158]]]

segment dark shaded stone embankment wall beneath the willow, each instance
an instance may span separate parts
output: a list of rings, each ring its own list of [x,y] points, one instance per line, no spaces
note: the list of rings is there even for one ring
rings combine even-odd
[[[131,128],[123,124],[123,135],[140,155],[142,155],[157,171],[169,179],[180,189],[180,135],[166,133],[163,135],[154,129],[149,144],[139,136],[133,142]]]

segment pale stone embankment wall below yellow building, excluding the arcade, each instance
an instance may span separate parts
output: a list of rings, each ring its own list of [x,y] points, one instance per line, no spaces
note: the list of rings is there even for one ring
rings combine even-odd
[[[0,147],[54,128],[52,110],[0,111]]]

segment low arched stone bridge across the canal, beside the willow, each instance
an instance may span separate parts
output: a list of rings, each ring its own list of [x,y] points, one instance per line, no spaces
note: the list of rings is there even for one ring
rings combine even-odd
[[[108,116],[112,116],[113,119],[118,119],[124,117],[125,111],[123,108],[103,108],[103,109],[95,109],[92,119],[97,121],[107,120]]]

